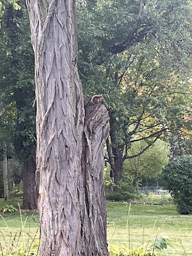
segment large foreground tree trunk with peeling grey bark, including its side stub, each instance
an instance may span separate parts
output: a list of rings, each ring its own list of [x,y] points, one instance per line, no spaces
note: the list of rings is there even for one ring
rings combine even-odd
[[[107,252],[105,106],[86,105],[77,70],[74,0],[26,0],[36,82],[41,256]]]

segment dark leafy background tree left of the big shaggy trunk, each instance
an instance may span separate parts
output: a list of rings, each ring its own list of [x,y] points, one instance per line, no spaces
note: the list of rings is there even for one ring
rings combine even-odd
[[[12,1],[13,2],[13,1]],[[35,196],[35,109],[34,102],[34,54],[30,43],[29,18],[24,1],[16,3],[3,1],[1,13],[1,108],[9,120],[14,113],[14,125],[7,121],[8,130],[3,133],[4,143],[15,147],[11,157],[17,157],[24,166],[24,209],[36,209]],[[3,144],[2,144],[3,145]]]

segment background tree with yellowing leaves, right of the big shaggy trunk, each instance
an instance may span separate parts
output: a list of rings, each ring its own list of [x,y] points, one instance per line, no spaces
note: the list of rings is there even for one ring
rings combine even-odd
[[[122,179],[131,143],[144,140],[148,148],[167,129],[178,134],[190,123],[184,120],[191,109],[190,12],[183,0],[87,1],[79,6],[80,77],[85,93],[103,93],[106,99],[106,159],[115,156],[115,184]]]

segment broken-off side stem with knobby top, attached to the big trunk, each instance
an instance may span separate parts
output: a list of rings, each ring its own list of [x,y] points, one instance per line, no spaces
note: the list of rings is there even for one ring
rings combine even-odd
[[[85,204],[81,205],[82,256],[108,255],[103,180],[103,148],[108,137],[108,120],[108,111],[104,105],[95,105],[91,103],[91,99],[87,100],[82,157],[82,189],[85,193]]]

